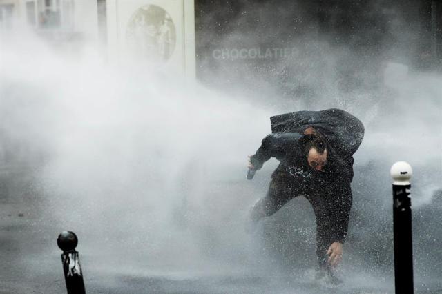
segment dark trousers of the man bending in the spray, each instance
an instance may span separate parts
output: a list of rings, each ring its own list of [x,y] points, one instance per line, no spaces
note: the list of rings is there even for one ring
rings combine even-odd
[[[251,219],[258,221],[276,213],[282,206],[294,197],[303,195],[309,200],[316,216],[316,255],[320,266],[327,263],[327,250],[336,240],[332,236],[332,228],[335,219],[332,217],[332,208],[329,205],[327,189],[313,191],[307,187],[293,182],[278,181],[273,179],[269,186],[266,197],[260,199],[251,210]]]

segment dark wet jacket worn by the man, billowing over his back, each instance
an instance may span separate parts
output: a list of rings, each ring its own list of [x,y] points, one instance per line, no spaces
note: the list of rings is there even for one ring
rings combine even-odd
[[[322,172],[307,163],[303,133],[309,126],[327,141],[327,164]],[[291,186],[294,195],[327,197],[333,213],[332,234],[336,241],[344,242],[352,206],[353,154],[363,139],[363,124],[348,112],[329,109],[271,117],[271,127],[273,133],[262,140],[251,164],[259,170],[275,157],[280,164],[271,175],[273,181]]]

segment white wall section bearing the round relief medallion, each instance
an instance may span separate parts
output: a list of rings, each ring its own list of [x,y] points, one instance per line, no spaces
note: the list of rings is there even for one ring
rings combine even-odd
[[[165,28],[160,28],[157,21],[154,21],[155,15],[159,14],[151,13],[159,12],[158,8],[166,12],[166,19],[171,19]],[[195,76],[194,11],[193,0],[108,0],[108,46],[111,60],[147,66],[155,64],[166,71],[177,70]],[[151,19],[148,19],[148,15],[152,16]],[[171,40],[166,41],[166,47],[169,48],[167,52],[170,54],[162,53],[164,50],[161,48],[164,46],[160,44],[165,37],[159,36],[163,33]]]

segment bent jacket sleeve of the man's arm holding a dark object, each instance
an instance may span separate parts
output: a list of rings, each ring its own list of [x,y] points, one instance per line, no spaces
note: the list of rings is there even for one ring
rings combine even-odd
[[[260,170],[265,161],[271,157],[276,157],[278,160],[284,159],[298,144],[300,137],[302,135],[298,133],[271,133],[267,135],[262,139],[261,146],[255,155],[250,158],[251,164],[255,166],[256,170]]]

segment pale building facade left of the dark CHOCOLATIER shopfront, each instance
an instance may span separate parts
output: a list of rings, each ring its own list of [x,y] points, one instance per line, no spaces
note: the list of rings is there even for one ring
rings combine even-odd
[[[19,26],[57,42],[97,43],[111,62],[195,76],[193,0],[0,0],[0,29]]]

